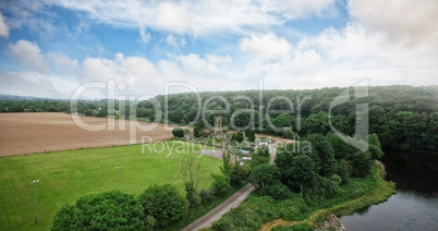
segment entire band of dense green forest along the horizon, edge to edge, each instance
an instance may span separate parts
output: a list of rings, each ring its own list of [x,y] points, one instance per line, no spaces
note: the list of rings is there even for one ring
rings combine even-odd
[[[331,102],[345,89],[352,94],[351,100],[334,107],[329,114]],[[285,138],[326,135],[331,131],[330,118],[333,127],[352,136],[357,123],[356,105],[367,102],[369,134],[378,135],[382,148],[438,151],[438,86],[374,86],[368,88],[367,97],[360,99],[353,93],[353,87],[184,93],[135,104],[135,115],[179,125],[195,125],[205,115],[208,123],[202,124],[200,129],[209,127],[214,118],[221,115],[223,126],[229,130],[250,129]],[[8,99],[4,96],[1,99],[0,112],[71,111],[68,100]],[[125,118],[130,118],[134,111],[130,110],[130,105],[134,104],[115,101],[114,113],[108,112],[108,102],[106,99],[81,100],[77,112],[92,117],[118,117],[123,109]]]

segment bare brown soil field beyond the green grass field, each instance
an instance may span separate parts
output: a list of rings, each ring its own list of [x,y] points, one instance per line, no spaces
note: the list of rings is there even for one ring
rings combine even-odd
[[[113,120],[107,118],[80,117],[88,125],[106,124],[102,131],[87,131],[78,126],[68,113],[0,113],[0,156],[57,151],[90,147],[129,145],[130,125],[156,127],[151,131],[133,129],[133,143],[166,141],[172,137],[172,131],[162,124]],[[109,129],[108,123],[114,124]],[[119,123],[122,123],[119,126]],[[123,124],[125,129],[123,130]]]

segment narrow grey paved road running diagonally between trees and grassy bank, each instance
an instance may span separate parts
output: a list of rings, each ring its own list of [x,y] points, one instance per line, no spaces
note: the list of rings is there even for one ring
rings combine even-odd
[[[186,226],[184,229],[182,229],[182,231],[197,231],[206,227],[211,227],[214,222],[218,221],[224,214],[230,211],[231,208],[238,207],[243,200],[245,200],[254,190],[255,189],[252,184],[246,184],[211,211],[204,215],[195,222]]]

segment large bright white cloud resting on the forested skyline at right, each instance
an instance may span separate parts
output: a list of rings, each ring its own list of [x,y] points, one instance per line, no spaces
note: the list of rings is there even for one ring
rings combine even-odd
[[[393,44],[356,23],[303,38],[292,53],[270,63],[250,61],[243,75],[264,78],[267,88],[349,86],[364,78],[374,85],[438,83],[437,52]]]

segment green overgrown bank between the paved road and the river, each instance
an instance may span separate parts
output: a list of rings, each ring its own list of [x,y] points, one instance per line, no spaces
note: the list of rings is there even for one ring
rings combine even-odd
[[[384,180],[385,171],[374,165],[366,178],[351,178],[341,186],[342,193],[334,198],[303,198],[291,193],[288,199],[273,199],[255,191],[238,208],[224,215],[209,230],[313,230],[334,214],[348,215],[373,204],[385,202],[396,193],[396,185]],[[307,229],[308,228],[308,229]]]

